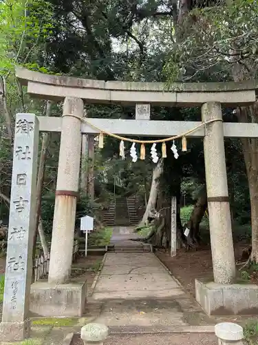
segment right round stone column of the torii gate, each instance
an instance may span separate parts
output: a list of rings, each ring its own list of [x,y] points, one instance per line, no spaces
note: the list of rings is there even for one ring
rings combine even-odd
[[[222,120],[220,103],[203,104],[202,121],[211,119]],[[204,159],[214,281],[219,284],[230,284],[235,278],[235,256],[222,121],[205,126]]]

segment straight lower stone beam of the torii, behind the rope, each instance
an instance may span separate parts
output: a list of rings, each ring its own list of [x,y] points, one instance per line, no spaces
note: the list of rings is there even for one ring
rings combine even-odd
[[[61,132],[62,117],[38,117],[41,132]],[[123,120],[123,119],[87,119],[91,124],[116,135],[172,137],[182,135],[202,124],[200,121],[154,121],[154,120]],[[258,124],[224,122],[225,138],[257,138]],[[82,122],[82,134],[98,134],[99,131]],[[205,128],[201,127],[188,137],[203,138]]]

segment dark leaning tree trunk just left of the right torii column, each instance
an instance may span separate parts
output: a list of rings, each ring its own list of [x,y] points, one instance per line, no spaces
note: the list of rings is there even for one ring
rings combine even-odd
[[[187,242],[190,246],[197,246],[200,244],[200,222],[204,217],[204,213],[207,208],[207,193],[206,190],[198,197],[193,211],[191,213],[191,217],[189,221],[184,225],[184,229],[189,228],[190,232],[187,236]]]

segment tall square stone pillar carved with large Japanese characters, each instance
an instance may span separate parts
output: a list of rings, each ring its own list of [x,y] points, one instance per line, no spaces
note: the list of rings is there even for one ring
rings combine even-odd
[[[0,324],[1,342],[20,341],[30,335],[28,311],[32,282],[38,144],[39,121],[36,116],[18,114],[12,165],[6,282]]]

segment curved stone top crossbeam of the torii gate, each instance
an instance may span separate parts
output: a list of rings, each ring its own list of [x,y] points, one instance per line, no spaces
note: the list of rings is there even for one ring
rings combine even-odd
[[[45,75],[25,68],[17,68],[17,78],[28,86],[32,97],[61,101],[65,97],[79,97],[87,103],[151,103],[160,106],[201,106],[217,101],[226,106],[244,106],[255,102],[258,81],[240,83],[164,83],[130,81],[100,81]]]

